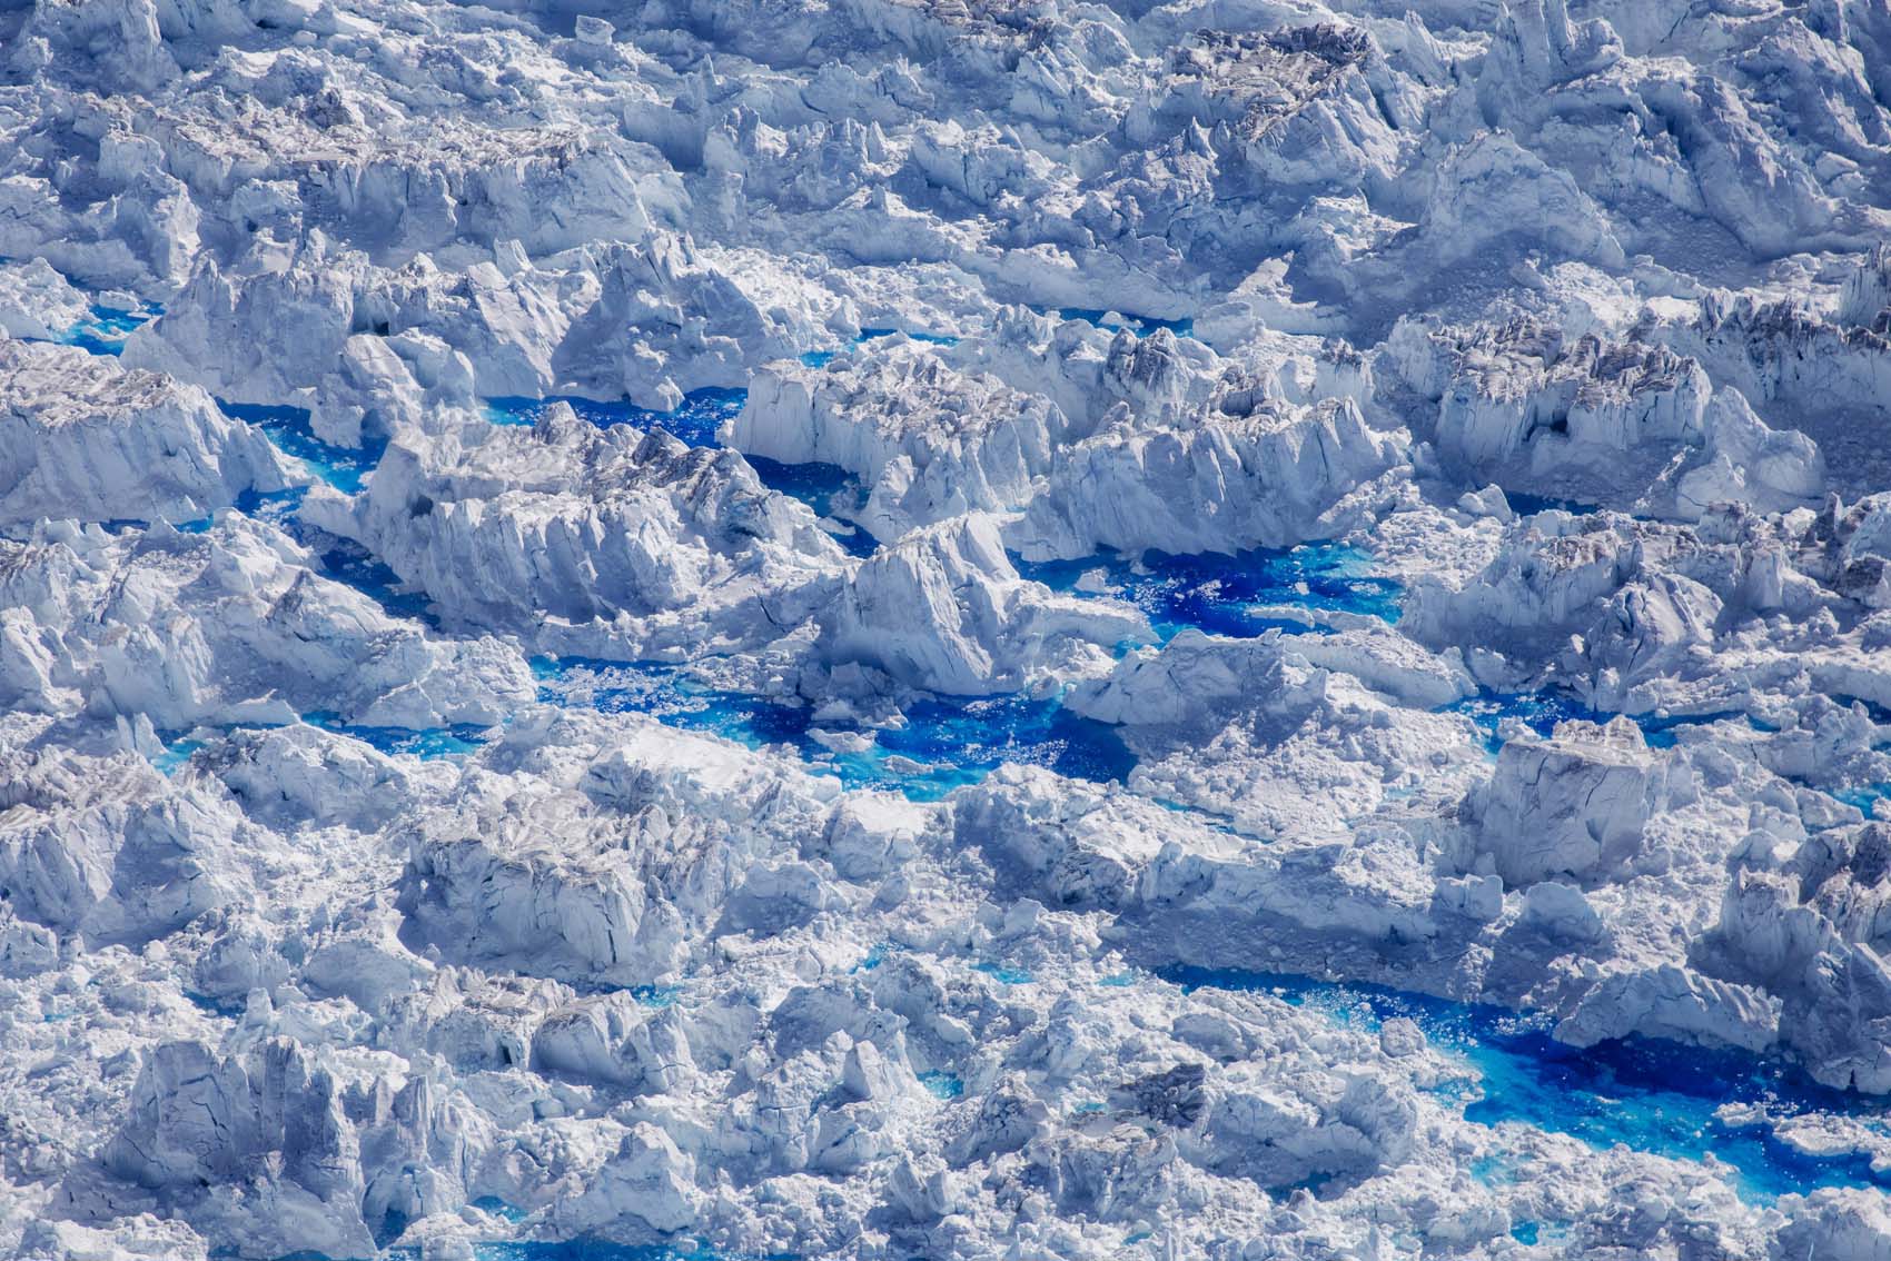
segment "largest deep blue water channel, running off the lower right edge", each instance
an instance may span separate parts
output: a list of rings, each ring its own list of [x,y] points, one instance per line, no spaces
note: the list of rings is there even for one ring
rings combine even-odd
[[[1819,1187],[1891,1189],[1891,1174],[1874,1174],[1863,1155],[1810,1157],[1761,1129],[1730,1127],[1715,1117],[1715,1110],[1730,1102],[1764,1104],[1783,1114],[1838,1112],[1880,1129],[1891,1117],[1882,1100],[1821,1087],[1778,1061],[1647,1038],[1585,1051],[1551,1038],[1549,1021],[1541,1017],[1375,985],[1206,968],[1165,968],[1159,976],[1186,989],[1267,991],[1363,1028],[1409,1017],[1435,1047],[1475,1070],[1475,1078],[1467,1072],[1437,1091],[1462,1100],[1469,1121],[1520,1121],[1594,1148],[1624,1144],[1687,1161],[1713,1153],[1738,1170],[1742,1195],[1757,1201]]]

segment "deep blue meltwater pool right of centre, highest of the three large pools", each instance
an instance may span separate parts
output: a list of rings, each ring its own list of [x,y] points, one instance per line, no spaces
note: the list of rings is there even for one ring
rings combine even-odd
[[[1310,630],[1295,618],[1263,614],[1259,607],[1267,605],[1360,613],[1386,622],[1399,618],[1399,582],[1371,577],[1371,558],[1337,543],[1305,543],[1292,550],[1252,548],[1235,556],[1144,552],[1140,563],[1119,552],[1053,561],[1014,556],[1012,561],[1023,577],[1067,596],[1093,596],[1095,592],[1078,590],[1078,579],[1102,569],[1108,596],[1142,609],[1163,643],[1191,626],[1237,639],[1252,639],[1269,630]]]

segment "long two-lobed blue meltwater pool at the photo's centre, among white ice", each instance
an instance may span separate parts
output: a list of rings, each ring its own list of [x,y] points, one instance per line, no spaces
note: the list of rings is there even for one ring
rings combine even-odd
[[[813,737],[809,707],[703,686],[677,665],[582,658],[535,658],[531,665],[543,701],[647,713],[749,749],[790,745],[849,788],[896,788],[915,802],[936,802],[1006,762],[1095,783],[1121,783],[1135,768],[1116,728],[1067,711],[1057,698],[927,698],[906,709],[904,726],[872,732],[872,747],[836,752]]]

